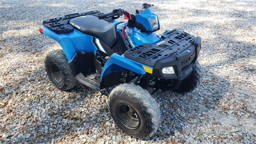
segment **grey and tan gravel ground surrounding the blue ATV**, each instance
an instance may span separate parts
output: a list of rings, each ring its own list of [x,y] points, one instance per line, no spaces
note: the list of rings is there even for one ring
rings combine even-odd
[[[202,37],[203,81],[193,92],[156,93],[157,134],[135,139],[108,113],[111,89],[78,84],[65,92],[47,78],[44,58],[61,49],[40,34],[42,21],[122,8],[143,1],[0,0],[0,143],[256,143],[256,3],[150,1],[162,34],[177,28]]]

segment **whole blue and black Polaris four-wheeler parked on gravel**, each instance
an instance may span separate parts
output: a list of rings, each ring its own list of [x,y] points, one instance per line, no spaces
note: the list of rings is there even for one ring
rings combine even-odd
[[[121,130],[137,138],[150,137],[161,123],[147,90],[190,92],[202,78],[201,38],[177,29],[158,36],[151,6],[143,4],[135,14],[122,9],[69,14],[45,20],[39,29],[63,49],[45,58],[52,83],[70,90],[80,82],[97,91],[123,83],[109,94],[109,111]],[[121,15],[128,22],[116,20]]]

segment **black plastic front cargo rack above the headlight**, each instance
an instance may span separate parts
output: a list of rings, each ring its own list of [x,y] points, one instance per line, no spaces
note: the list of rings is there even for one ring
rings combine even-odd
[[[179,56],[181,52],[190,49],[189,47],[192,45],[197,47],[196,43],[194,43],[197,38],[199,37],[194,37],[188,33],[174,29],[162,35],[161,41],[155,44],[145,43],[135,46],[132,49],[127,50],[124,53],[124,56],[131,60],[154,67],[158,60],[170,57],[170,55],[174,53]]]

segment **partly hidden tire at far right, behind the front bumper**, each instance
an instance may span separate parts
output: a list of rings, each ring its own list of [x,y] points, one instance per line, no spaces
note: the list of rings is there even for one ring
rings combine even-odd
[[[177,90],[173,92],[187,93],[194,91],[202,81],[202,68],[198,61],[195,62],[193,71],[191,72],[188,79],[181,81],[181,84]]]

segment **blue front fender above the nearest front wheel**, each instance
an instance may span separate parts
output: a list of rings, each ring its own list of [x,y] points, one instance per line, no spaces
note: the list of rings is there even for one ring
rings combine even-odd
[[[125,58],[123,55],[112,54],[104,65],[101,73],[101,81],[103,76],[123,71],[124,69],[131,70],[135,73],[144,75],[146,74],[143,66],[135,61]]]

